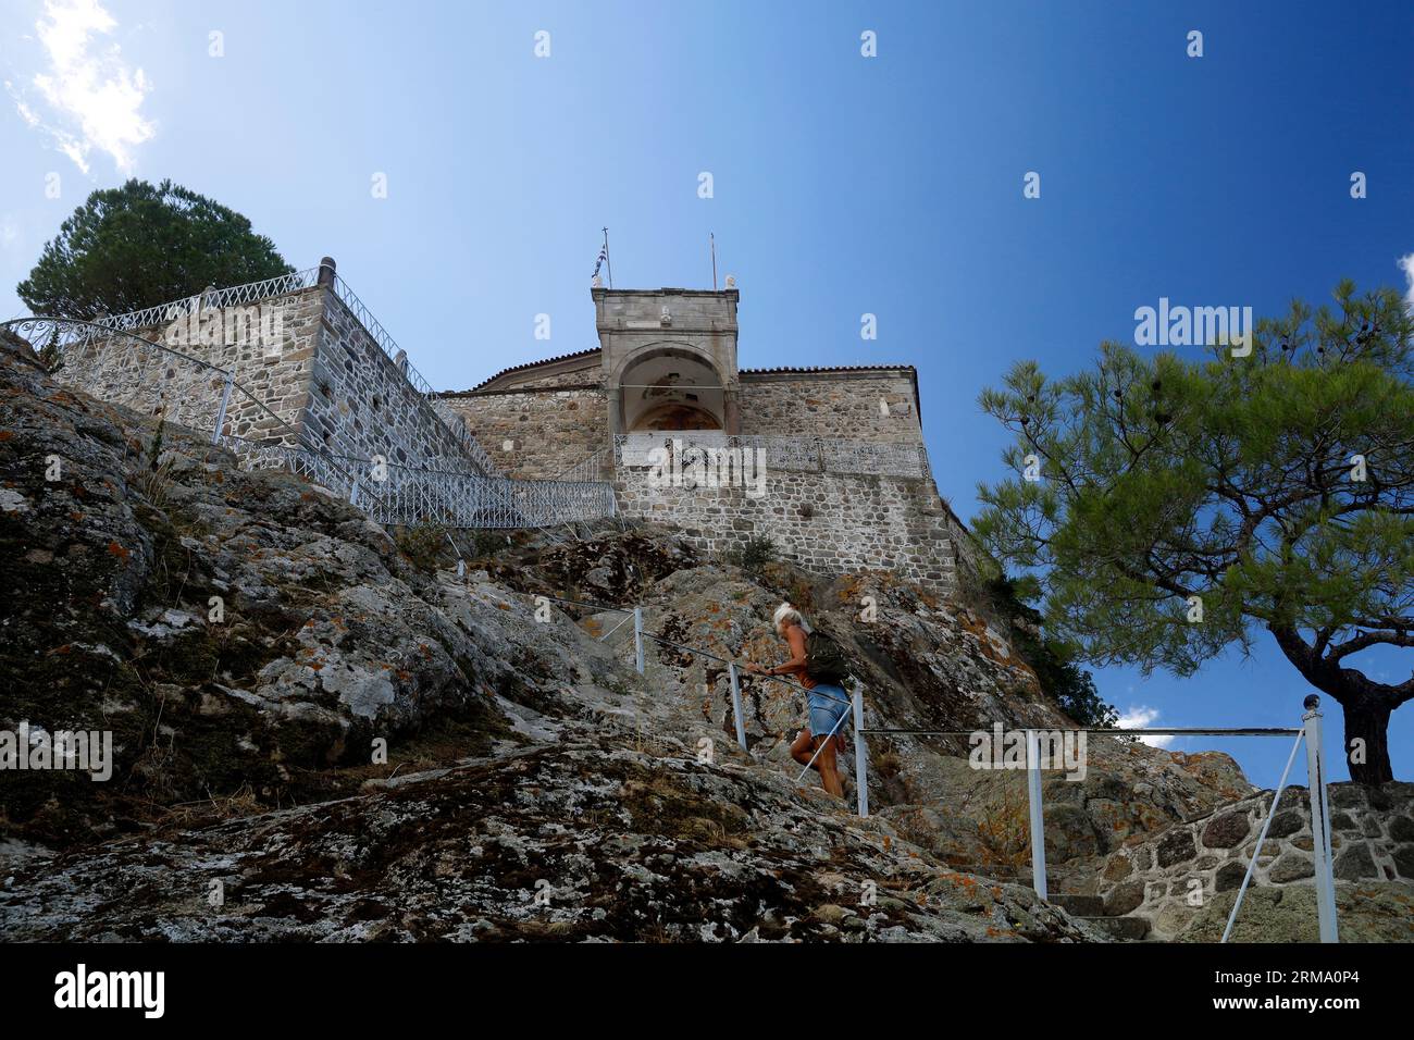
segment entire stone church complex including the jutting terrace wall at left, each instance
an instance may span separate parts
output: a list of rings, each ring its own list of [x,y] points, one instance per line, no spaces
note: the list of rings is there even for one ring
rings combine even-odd
[[[513,528],[617,512],[672,524],[708,553],[769,538],[822,574],[892,570],[952,591],[959,562],[976,567],[933,484],[911,365],[741,368],[730,279],[720,291],[594,286],[591,297],[598,347],[440,392],[325,258],[79,323],[61,378],[215,429],[351,501],[368,485],[365,508],[383,522]],[[271,331],[239,334],[253,316]],[[387,474],[370,484],[380,458]]]

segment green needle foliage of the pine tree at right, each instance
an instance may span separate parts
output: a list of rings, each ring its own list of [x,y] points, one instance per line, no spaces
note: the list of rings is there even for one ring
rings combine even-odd
[[[1414,318],[1391,289],[1345,282],[1335,301],[1260,321],[1249,357],[1106,342],[1092,371],[1022,362],[981,395],[1018,477],[980,485],[974,532],[1028,577],[1048,632],[1189,675],[1267,630],[1348,710],[1414,696],[1342,664],[1414,647]]]

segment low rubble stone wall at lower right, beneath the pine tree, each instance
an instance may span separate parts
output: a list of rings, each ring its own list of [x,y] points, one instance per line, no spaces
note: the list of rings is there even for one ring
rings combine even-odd
[[[1257,835],[1271,808],[1271,791],[1261,791],[1212,815],[1178,824],[1116,850],[1102,869],[1103,880],[1097,891],[1104,900],[1106,914],[1143,918],[1148,923],[1151,938],[1220,938],[1222,925],[1232,911],[1233,893],[1241,886],[1247,865],[1257,852]],[[1281,805],[1257,855],[1243,907],[1237,911],[1239,925],[1254,891],[1314,887],[1315,846],[1308,798],[1304,787],[1288,787],[1281,792]],[[1346,886],[1393,883],[1404,890],[1407,883],[1414,883],[1414,784],[1391,782],[1373,788],[1332,784],[1328,798],[1338,903]],[[1414,896],[1414,887],[1407,896]],[[1192,904],[1199,900],[1200,906]],[[1257,907],[1264,904],[1258,896],[1251,904],[1254,914],[1263,913]],[[1309,906],[1314,907],[1314,901]],[[1414,940],[1410,906],[1414,900],[1406,899],[1406,940]],[[1314,940],[1316,921],[1314,913],[1308,917],[1304,924]],[[1216,935],[1212,934],[1215,930]],[[1234,938],[1241,940],[1243,935],[1234,931]]]

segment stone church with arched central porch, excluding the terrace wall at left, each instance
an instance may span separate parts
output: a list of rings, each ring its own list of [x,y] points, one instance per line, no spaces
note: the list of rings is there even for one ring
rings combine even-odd
[[[933,484],[912,365],[741,368],[730,280],[591,296],[598,347],[440,395],[501,473],[614,481],[621,514],[679,525],[708,552],[768,536],[820,573],[956,586],[973,550]],[[690,461],[727,447],[756,453],[764,488],[665,485],[653,466],[655,449]]]

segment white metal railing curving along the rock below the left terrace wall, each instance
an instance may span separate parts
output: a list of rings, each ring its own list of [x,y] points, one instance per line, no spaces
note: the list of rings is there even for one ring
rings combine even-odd
[[[57,379],[211,433],[245,468],[283,468],[346,495],[382,524],[542,528],[612,516],[604,481],[522,481],[434,466],[402,466],[311,449],[303,432],[221,368],[109,325],[68,318],[0,324],[65,359]],[[240,423],[242,430],[235,429]]]

